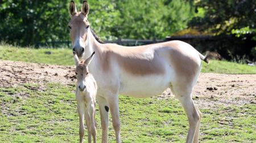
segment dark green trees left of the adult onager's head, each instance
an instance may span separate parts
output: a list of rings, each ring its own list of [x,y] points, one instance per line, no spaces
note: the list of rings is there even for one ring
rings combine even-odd
[[[18,45],[68,40],[69,1],[3,0],[0,41]]]

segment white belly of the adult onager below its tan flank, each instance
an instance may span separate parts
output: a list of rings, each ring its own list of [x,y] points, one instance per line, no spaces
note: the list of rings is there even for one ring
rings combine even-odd
[[[164,75],[134,76],[123,71],[119,94],[137,98],[157,96],[170,86],[170,75],[166,71]]]

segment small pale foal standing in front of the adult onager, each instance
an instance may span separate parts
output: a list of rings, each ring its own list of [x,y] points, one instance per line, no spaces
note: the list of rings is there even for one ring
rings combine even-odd
[[[96,143],[96,93],[97,84],[88,71],[88,65],[92,60],[92,55],[85,61],[79,61],[76,52],[73,52],[76,61],[76,77],[77,77],[77,89],[76,89],[76,101],[77,111],[79,112],[79,135],[80,142],[83,142],[84,137],[84,118],[86,120],[86,127],[88,129],[88,142]]]

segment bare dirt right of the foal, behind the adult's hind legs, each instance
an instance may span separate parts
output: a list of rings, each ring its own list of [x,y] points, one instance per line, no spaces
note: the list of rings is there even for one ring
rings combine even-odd
[[[174,97],[170,89],[167,89],[159,98],[166,98],[166,94]],[[256,104],[256,74],[200,73],[192,97],[199,109],[217,109],[220,105],[227,107]]]

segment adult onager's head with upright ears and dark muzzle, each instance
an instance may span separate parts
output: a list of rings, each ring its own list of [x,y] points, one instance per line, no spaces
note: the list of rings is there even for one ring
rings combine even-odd
[[[70,2],[69,14],[71,15],[71,20],[68,23],[68,27],[70,29],[73,51],[77,53],[78,57],[84,55],[85,46],[88,44],[87,37],[90,26],[87,20],[88,13],[89,5],[87,1],[82,3],[82,10],[80,12],[77,12],[75,2]]]

